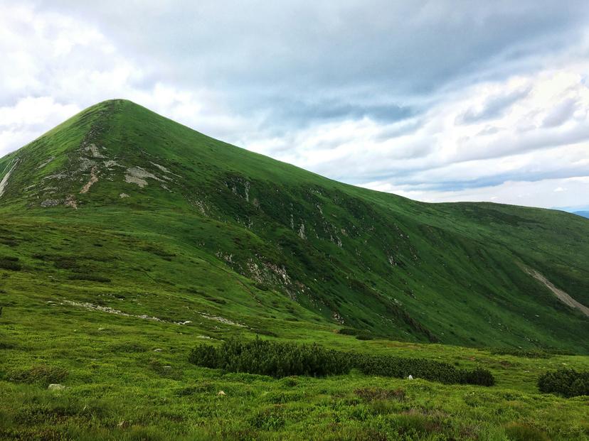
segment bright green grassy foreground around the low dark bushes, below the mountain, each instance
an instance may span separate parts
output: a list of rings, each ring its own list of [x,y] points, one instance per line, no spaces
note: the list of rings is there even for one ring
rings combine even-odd
[[[0,317],[4,439],[589,439],[589,397],[558,398],[536,388],[547,369],[589,369],[587,356],[527,359],[437,344],[363,342],[317,325],[301,330],[297,342],[484,366],[497,386],[445,386],[354,371],[272,379],[189,364],[189,351],[203,335],[217,336],[207,342],[223,334],[253,337],[235,325],[121,317],[47,303],[42,293],[11,300]],[[65,389],[48,390],[50,383]]]

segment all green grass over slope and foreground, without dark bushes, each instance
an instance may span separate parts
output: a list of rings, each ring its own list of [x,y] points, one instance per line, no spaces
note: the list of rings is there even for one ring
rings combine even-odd
[[[121,100],[0,159],[0,178],[17,158],[0,198],[0,438],[588,439],[587,397],[536,383],[589,370],[589,320],[522,269],[589,304],[582,217],[335,183]],[[138,167],[157,179],[126,182]],[[189,363],[198,343],[256,334],[497,384]]]

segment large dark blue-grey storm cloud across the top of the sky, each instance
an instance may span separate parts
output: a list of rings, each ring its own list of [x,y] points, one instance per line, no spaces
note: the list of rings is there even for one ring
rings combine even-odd
[[[248,111],[273,108],[284,96],[296,98],[293,103],[322,97],[324,112],[334,99],[340,108],[354,106],[359,95],[405,107],[452,82],[480,80],[482,65],[506,68],[560,50],[578,38],[588,15],[583,1],[567,7],[445,0],[57,0],[38,6],[97,23],[149,72],[139,87],[162,76],[177,84],[205,82]],[[303,107],[309,118],[317,116],[317,108]]]

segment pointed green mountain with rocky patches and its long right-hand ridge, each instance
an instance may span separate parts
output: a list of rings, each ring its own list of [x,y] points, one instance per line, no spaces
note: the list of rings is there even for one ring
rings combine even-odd
[[[0,159],[0,180],[0,290],[35,305],[589,352],[573,214],[345,185],[125,100]]]

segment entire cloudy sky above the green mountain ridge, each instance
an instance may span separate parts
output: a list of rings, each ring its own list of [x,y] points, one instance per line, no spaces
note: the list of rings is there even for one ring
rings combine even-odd
[[[127,98],[428,202],[589,207],[586,1],[0,0],[0,156]]]

